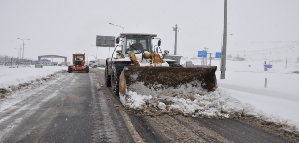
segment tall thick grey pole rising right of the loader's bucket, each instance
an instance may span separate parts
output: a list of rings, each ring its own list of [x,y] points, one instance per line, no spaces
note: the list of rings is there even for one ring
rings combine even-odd
[[[226,72],[226,40],[227,40],[227,0],[224,0],[224,26],[223,26],[223,44],[221,53],[221,72],[220,79],[225,79]]]

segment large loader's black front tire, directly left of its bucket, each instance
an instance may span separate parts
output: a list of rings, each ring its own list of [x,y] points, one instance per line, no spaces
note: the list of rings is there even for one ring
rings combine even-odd
[[[130,64],[114,64],[111,72],[111,87],[115,95],[119,95],[119,78],[125,66]]]

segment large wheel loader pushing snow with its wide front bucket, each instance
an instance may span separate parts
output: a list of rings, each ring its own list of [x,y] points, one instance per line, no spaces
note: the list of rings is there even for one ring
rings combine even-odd
[[[116,44],[120,38],[122,44],[115,49],[121,50],[114,50],[116,56],[106,59],[105,84],[112,87],[124,107],[132,104],[131,98],[136,94],[158,97],[176,89],[209,92],[217,88],[216,66],[185,68],[175,60],[165,59],[169,51],[162,53],[157,35],[122,33]],[[158,45],[153,46],[152,39],[158,39]]]

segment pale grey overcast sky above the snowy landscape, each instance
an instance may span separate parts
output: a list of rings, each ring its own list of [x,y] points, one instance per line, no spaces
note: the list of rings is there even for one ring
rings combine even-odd
[[[298,17],[299,0],[228,0],[228,54],[269,49],[279,57],[294,47],[288,54],[297,58]],[[96,35],[122,33],[110,22],[124,33],[157,34],[170,53],[177,24],[177,54],[192,57],[204,47],[220,52],[223,21],[224,0],[0,0],[0,55],[17,57],[21,38],[30,39],[24,58],[85,52],[95,59]],[[108,51],[98,47],[98,58]]]

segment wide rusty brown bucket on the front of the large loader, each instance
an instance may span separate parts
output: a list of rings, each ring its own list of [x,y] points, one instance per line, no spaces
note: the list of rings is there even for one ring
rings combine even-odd
[[[215,91],[217,67],[207,67],[125,67],[119,80],[120,100],[126,107],[131,105],[127,98],[131,98],[133,92],[157,97],[167,96],[167,92],[173,89]]]

